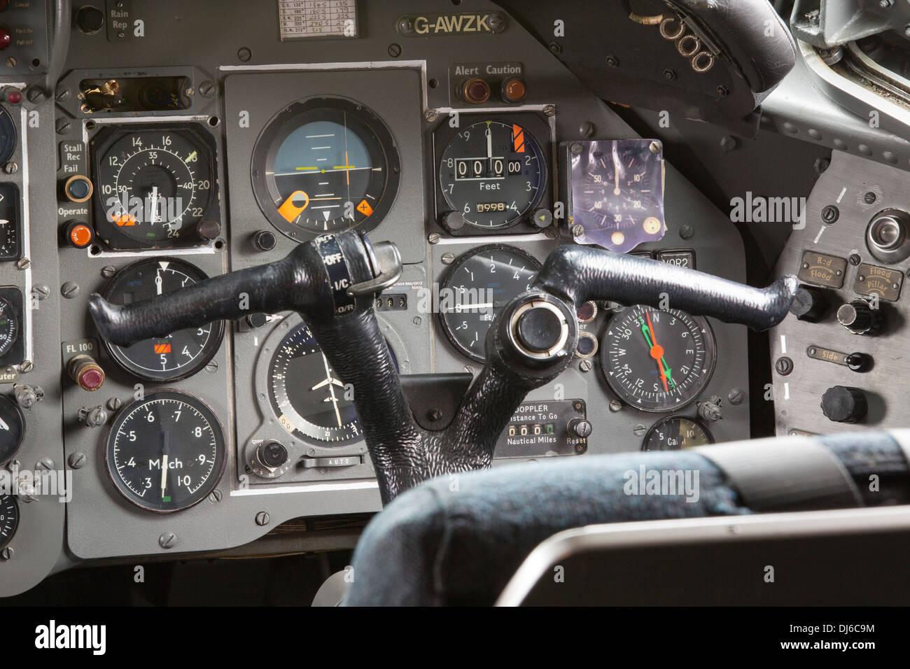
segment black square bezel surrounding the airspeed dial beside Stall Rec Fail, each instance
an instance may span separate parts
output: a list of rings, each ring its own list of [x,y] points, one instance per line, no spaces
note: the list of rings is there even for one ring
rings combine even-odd
[[[182,248],[189,246],[204,246],[207,240],[199,238],[196,232],[196,226],[187,226],[183,234],[176,238],[167,239],[141,239],[127,235],[116,223],[108,220],[106,217],[107,206],[105,198],[111,196],[103,193],[104,184],[102,183],[103,162],[109,155],[109,151],[121,139],[132,135],[145,134],[148,132],[161,133],[167,132],[177,134],[187,139],[187,142],[194,147],[197,152],[201,152],[206,157],[207,177],[211,188],[208,188],[208,195],[205,205],[202,207],[202,216],[199,220],[206,218],[219,219],[217,215],[218,208],[218,179],[216,153],[217,147],[215,138],[208,132],[205,127],[197,123],[187,124],[149,124],[149,125],[129,125],[106,127],[98,131],[95,137],[89,143],[92,155],[92,177],[95,186],[95,193],[92,196],[92,204],[95,208],[95,232],[96,238],[101,239],[106,245],[114,250],[132,250],[135,248]],[[197,189],[194,188],[194,193]]]

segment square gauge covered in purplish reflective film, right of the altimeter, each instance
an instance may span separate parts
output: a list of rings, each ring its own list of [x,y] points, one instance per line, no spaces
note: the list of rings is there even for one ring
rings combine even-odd
[[[568,142],[569,216],[579,244],[626,253],[666,233],[663,157],[652,139]]]

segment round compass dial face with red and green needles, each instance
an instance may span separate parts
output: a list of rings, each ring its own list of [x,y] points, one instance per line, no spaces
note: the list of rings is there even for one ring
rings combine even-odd
[[[717,359],[707,320],[644,305],[610,319],[601,350],[607,383],[641,411],[673,411],[694,400],[711,380]]]

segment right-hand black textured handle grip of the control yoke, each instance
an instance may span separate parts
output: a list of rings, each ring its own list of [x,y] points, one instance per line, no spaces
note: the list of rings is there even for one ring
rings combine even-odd
[[[547,258],[534,287],[569,299],[576,307],[589,299],[652,307],[665,304],[693,316],[711,316],[762,330],[787,315],[797,281],[786,275],[757,289],[649,258],[561,246]]]

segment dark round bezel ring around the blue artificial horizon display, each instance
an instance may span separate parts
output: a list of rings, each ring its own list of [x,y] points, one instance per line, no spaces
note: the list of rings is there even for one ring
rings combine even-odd
[[[333,111],[343,111],[356,117],[363,126],[367,127],[376,141],[379,143],[379,149],[385,161],[386,184],[382,195],[373,206],[372,213],[364,218],[353,228],[362,232],[379,226],[382,220],[389,214],[389,210],[398,198],[399,182],[401,179],[401,157],[399,156],[398,146],[395,138],[392,137],[389,127],[379,117],[376,112],[363,103],[352,100],[348,97],[325,96],[325,97],[308,97],[305,99],[292,102],[284,107],[274,117],[268,119],[265,127],[256,140],[253,147],[253,154],[250,158],[250,180],[253,187],[253,195],[256,197],[259,209],[263,215],[268,218],[268,222],[284,235],[298,242],[308,241],[319,235],[325,234],[324,231],[309,230],[288,222],[275,206],[275,200],[272,197],[271,188],[269,188],[267,167],[273,165],[275,157],[278,155],[278,149],[284,140],[299,127],[303,127],[308,120],[298,120],[320,109],[331,109]],[[369,142],[364,137],[360,137],[369,150]],[[329,230],[329,232],[341,232],[342,230]]]

